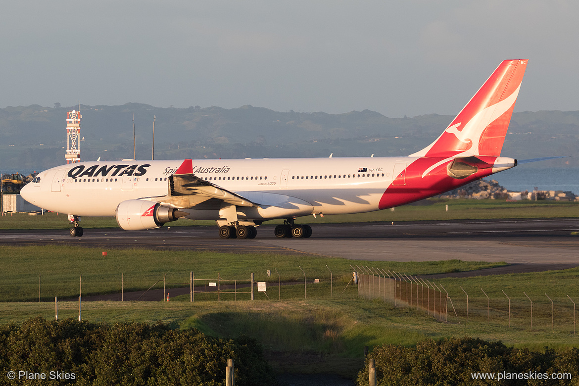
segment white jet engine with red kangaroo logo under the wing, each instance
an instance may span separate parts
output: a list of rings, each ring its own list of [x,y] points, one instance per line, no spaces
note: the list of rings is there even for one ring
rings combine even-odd
[[[153,201],[126,200],[116,207],[116,223],[124,230],[154,229],[188,214]]]

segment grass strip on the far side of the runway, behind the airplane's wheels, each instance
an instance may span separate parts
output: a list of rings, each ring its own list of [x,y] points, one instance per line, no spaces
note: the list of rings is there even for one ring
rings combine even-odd
[[[448,205],[448,211],[446,211]],[[326,215],[324,217],[306,216],[300,223],[350,223],[383,221],[420,221],[420,220],[460,220],[460,219],[506,219],[506,218],[574,218],[579,217],[579,203],[559,201],[516,201],[497,200],[438,200],[430,199],[417,204],[403,205],[362,214]],[[267,223],[281,223],[274,220]],[[83,217],[81,225],[85,228],[118,227],[114,218]],[[167,223],[165,226],[214,226],[214,221],[186,220]],[[65,214],[47,213],[43,216],[28,214],[8,214],[0,218],[0,229],[66,229],[69,227]]]

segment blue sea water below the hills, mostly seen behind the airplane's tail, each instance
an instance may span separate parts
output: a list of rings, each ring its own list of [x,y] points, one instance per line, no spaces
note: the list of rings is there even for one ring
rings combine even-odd
[[[36,170],[41,171],[41,170]],[[3,173],[20,172],[28,175],[32,170],[5,170]],[[538,190],[563,190],[579,195],[579,168],[536,168],[522,164],[485,178],[494,179],[501,186],[513,192]]]

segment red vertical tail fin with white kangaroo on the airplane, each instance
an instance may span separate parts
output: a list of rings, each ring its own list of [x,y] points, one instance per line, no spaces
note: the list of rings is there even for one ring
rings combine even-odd
[[[527,60],[505,60],[444,133],[411,157],[500,156]]]

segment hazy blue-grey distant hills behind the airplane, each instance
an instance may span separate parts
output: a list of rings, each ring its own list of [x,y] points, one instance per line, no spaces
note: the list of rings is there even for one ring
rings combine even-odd
[[[0,109],[0,167],[43,170],[64,163],[67,111],[78,106],[39,105]],[[187,109],[145,104],[80,105],[81,159],[133,157],[133,113],[137,159],[405,156],[430,144],[453,116],[389,118],[364,110],[342,114],[276,112],[250,105]],[[515,113],[503,155],[526,159],[575,156],[579,111]],[[579,157],[550,161],[579,167]]]

